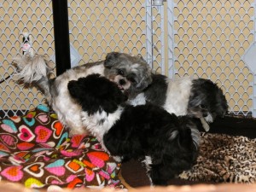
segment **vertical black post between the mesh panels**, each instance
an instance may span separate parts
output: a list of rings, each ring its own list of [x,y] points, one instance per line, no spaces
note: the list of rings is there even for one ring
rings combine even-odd
[[[52,0],[56,75],[71,67],[67,0]]]

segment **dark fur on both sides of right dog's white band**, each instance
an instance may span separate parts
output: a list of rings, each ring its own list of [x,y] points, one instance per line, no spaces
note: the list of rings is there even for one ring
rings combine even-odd
[[[147,102],[164,107],[168,97],[168,78],[162,74],[152,73],[152,83],[144,90]],[[183,90],[180,90],[182,93]],[[212,120],[217,116],[224,117],[228,111],[227,100],[223,91],[210,79],[193,79],[187,114],[190,117],[201,118],[211,114]],[[168,108],[166,108],[168,111]]]

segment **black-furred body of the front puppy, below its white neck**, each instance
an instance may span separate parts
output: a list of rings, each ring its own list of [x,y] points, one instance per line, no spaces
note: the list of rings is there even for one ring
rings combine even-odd
[[[152,182],[166,185],[195,162],[198,146],[191,137],[192,126],[189,118],[178,119],[151,104],[129,106],[104,135],[103,143],[110,154],[125,160],[150,156]]]

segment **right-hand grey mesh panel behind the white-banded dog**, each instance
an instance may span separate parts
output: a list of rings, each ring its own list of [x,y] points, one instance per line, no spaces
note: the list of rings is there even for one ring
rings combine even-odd
[[[175,0],[175,76],[196,74],[224,90],[231,113],[253,107],[253,74],[242,55],[254,41],[253,0]]]

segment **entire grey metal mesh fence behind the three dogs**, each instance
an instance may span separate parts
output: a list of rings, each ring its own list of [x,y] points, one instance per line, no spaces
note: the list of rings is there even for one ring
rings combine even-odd
[[[110,51],[141,54],[170,78],[212,79],[224,90],[231,113],[249,115],[256,108],[256,79],[242,56],[255,41],[253,6],[253,0],[70,0],[71,59],[84,64]],[[21,53],[21,32],[32,34],[35,52],[54,58],[51,7],[50,0],[0,3],[0,79],[14,72],[10,62]],[[11,78],[0,89],[4,116],[44,100],[38,90],[22,89]]]

